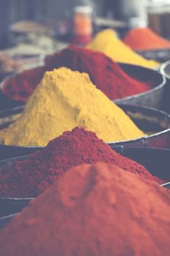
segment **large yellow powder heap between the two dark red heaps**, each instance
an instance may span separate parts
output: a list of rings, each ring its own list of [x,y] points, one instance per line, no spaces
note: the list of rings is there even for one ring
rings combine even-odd
[[[46,146],[77,126],[96,132],[106,142],[144,135],[123,110],[93,86],[87,74],[63,67],[45,73],[2,140],[6,145]]]

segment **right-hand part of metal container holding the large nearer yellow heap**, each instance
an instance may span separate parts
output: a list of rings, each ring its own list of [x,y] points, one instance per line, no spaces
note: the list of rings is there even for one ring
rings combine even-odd
[[[170,148],[170,115],[154,108],[134,105],[119,105],[146,135],[134,140],[108,143],[110,146],[138,146],[148,148]]]

